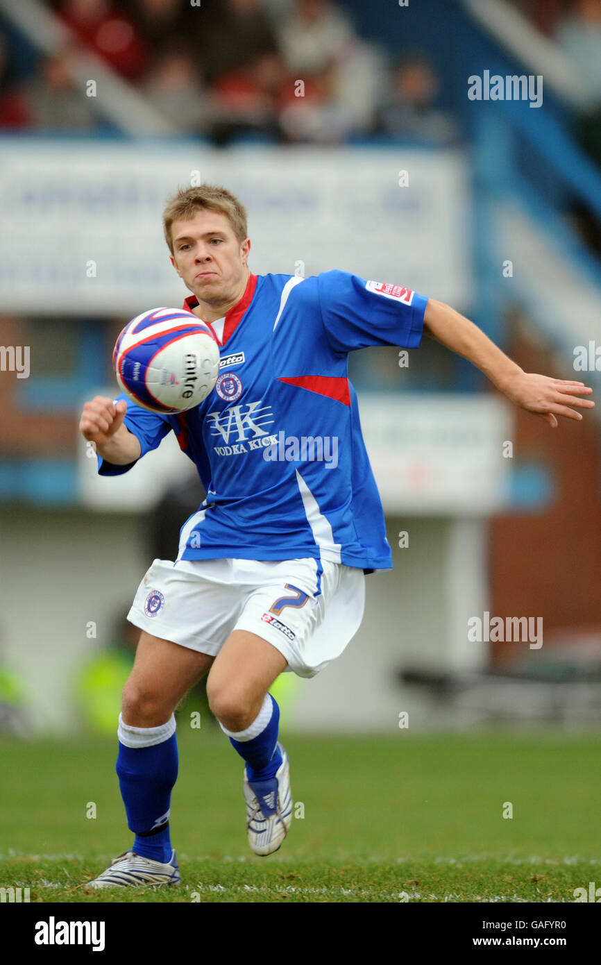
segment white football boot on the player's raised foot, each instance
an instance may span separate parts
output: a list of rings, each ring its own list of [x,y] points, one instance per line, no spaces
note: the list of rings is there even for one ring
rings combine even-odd
[[[278,744],[282,763],[275,778],[250,782],[244,768],[244,798],[248,842],[255,854],[277,851],[292,823],[290,765],[285,748]]]

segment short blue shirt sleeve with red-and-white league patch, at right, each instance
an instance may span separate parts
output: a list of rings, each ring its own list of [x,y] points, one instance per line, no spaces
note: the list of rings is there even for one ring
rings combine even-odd
[[[417,291],[366,281],[346,271],[318,275],[317,290],[326,335],[335,351],[420,345],[427,298]]]

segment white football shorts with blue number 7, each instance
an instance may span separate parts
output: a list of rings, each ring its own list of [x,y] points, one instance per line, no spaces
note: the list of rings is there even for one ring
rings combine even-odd
[[[127,620],[154,637],[216,656],[232,630],[249,630],[312,677],[363,619],[362,569],[312,558],[286,561],[154,560]]]

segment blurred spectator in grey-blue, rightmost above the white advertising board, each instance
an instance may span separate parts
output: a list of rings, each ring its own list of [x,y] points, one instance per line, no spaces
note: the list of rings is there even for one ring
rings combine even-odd
[[[390,93],[380,104],[377,133],[451,144],[457,130],[451,116],[435,106],[438,79],[422,57],[403,59],[391,76]]]

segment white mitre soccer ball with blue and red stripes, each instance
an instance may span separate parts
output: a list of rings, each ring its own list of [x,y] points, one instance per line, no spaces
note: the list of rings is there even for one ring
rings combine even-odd
[[[219,345],[191,312],[153,308],[132,318],[113,350],[123,392],[152,412],[175,413],[199,405],[219,374]]]

